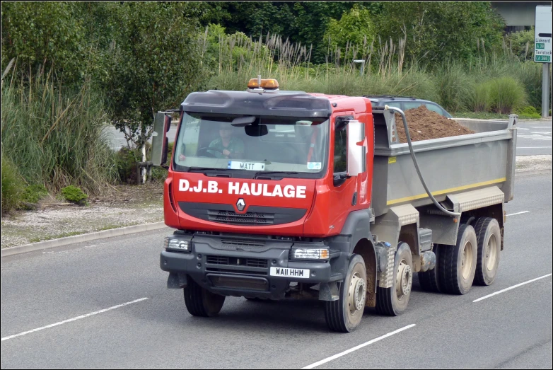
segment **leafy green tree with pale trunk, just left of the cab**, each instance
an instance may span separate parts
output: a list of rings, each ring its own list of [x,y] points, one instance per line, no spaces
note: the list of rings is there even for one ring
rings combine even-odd
[[[122,3],[106,52],[105,98],[115,127],[127,142],[144,147],[158,110],[176,108],[204,82],[197,3]]]

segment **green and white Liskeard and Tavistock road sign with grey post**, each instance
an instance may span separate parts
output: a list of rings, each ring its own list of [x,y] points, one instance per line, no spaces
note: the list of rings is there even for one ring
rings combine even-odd
[[[543,63],[542,117],[549,115],[549,66],[552,58],[552,13],[551,6],[536,6],[534,62]]]

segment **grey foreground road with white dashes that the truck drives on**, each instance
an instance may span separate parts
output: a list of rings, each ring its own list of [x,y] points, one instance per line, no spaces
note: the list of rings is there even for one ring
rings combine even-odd
[[[367,309],[349,334],[327,330],[318,301],[227,298],[217,318],[190,316],[158,266],[168,229],[3,258],[1,368],[301,368],[343,354],[317,368],[551,369],[552,175],[516,178],[506,211],[494,285],[450,296],[414,279],[402,316]]]

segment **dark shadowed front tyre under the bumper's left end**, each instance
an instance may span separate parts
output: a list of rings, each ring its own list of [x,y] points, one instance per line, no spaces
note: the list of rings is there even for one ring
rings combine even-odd
[[[225,296],[211,293],[211,291],[200,287],[190,277],[184,291],[186,308],[192,316],[204,318],[216,316],[225,303]]]

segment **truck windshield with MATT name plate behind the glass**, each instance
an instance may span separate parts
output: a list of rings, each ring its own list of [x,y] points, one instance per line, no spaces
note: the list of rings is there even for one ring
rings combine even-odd
[[[183,112],[173,168],[322,173],[327,118]]]

